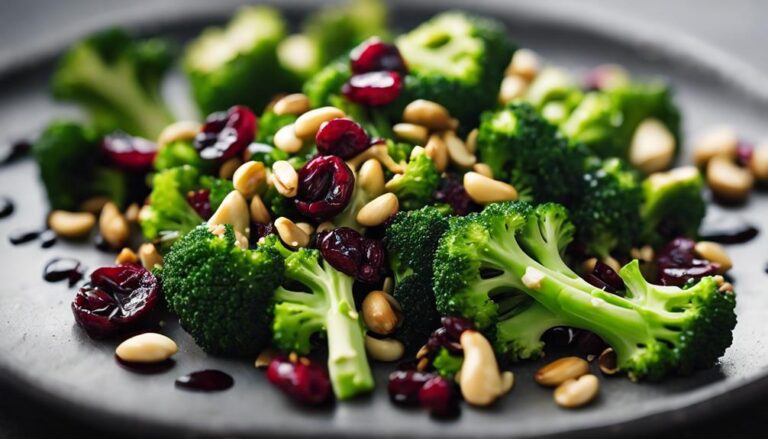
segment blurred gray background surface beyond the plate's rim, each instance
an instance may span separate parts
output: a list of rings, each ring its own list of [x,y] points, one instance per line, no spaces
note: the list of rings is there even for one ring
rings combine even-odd
[[[225,9],[237,3],[216,1]],[[0,0],[0,66],[46,55],[52,47],[62,46],[104,25],[138,22],[138,17],[146,14],[170,17],[178,15],[182,8],[194,10],[203,3],[200,0]],[[594,10],[605,16],[629,15],[648,26],[675,27],[685,33],[686,38],[718,47],[759,73],[768,74],[768,2],[765,1],[540,0],[536,7],[577,8],[587,13]],[[704,431],[713,433],[715,429],[724,429],[729,435],[748,435],[750,431],[754,434],[761,428],[759,414],[765,413],[766,408],[768,401],[756,402],[740,410],[741,414],[725,413],[723,408],[723,418],[709,420],[697,429],[698,433],[690,431],[686,435],[694,437]],[[33,433],[44,434],[48,428],[64,434],[75,427],[65,419],[36,412],[23,400],[0,395],[0,437],[29,437]]]

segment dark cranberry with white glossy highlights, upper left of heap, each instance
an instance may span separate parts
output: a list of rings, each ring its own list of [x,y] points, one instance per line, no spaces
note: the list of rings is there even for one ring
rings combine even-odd
[[[248,108],[237,105],[211,113],[195,137],[195,148],[204,160],[224,160],[240,154],[253,142],[258,121]]]

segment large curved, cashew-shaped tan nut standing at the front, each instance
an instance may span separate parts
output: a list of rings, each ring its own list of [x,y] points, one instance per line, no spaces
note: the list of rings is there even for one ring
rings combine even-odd
[[[459,377],[461,394],[472,405],[490,405],[512,388],[513,375],[499,373],[493,348],[479,332],[464,331],[459,342],[464,350]]]

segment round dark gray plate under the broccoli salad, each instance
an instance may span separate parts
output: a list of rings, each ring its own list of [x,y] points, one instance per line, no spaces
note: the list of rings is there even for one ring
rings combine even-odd
[[[283,6],[295,16],[301,3]],[[737,61],[684,37],[657,35],[652,27],[615,18],[587,17],[577,8],[560,10],[557,15],[544,8],[511,9],[502,2],[479,2],[473,8],[505,20],[522,45],[577,72],[618,62],[639,75],[669,79],[683,104],[686,134],[718,122],[734,124],[747,138],[766,134],[768,89],[761,78]],[[440,9],[396,2],[396,16],[403,26]],[[190,17],[153,16],[139,21],[145,30],[183,36],[201,22],[220,21],[222,12],[228,11],[206,14],[196,9]],[[52,41],[51,50],[59,44]],[[30,60],[23,67],[0,66],[0,132],[9,138],[30,135],[53,115],[69,111],[47,98],[49,68],[46,60]],[[734,71],[737,73],[727,76]],[[183,90],[181,83],[169,85],[169,93],[183,102],[179,90]],[[768,388],[768,349],[763,346],[768,339],[764,323],[768,295],[762,291],[768,280],[763,272],[768,262],[766,235],[729,248],[735,260],[739,324],[734,344],[717,368],[663,384],[604,378],[594,404],[563,411],[553,404],[551,391],[532,382],[538,363],[520,364],[513,369],[514,390],[500,403],[485,410],[464,407],[459,420],[436,422],[423,412],[400,410],[389,403],[383,387],[391,366],[376,365],[379,387],[370,397],[307,410],[269,387],[250,362],[207,356],[172,321],[165,332],[180,346],[175,368],[153,376],[121,369],[113,360],[115,343],[93,341],[74,325],[69,309],[74,291],[41,280],[44,263],[54,256],[75,256],[90,268],[108,264],[112,258],[86,245],[60,243],[49,250],[41,250],[36,243],[12,247],[5,236],[12,230],[42,225],[45,201],[30,161],[2,168],[0,188],[0,195],[13,195],[17,202],[17,213],[0,222],[0,376],[6,385],[42,404],[116,431],[441,437],[647,432],[706,416],[722,404],[749,400]],[[764,227],[768,200],[764,195],[753,197],[746,208],[727,215]],[[174,388],[178,375],[203,368],[229,372],[235,377],[235,387],[207,395]]]

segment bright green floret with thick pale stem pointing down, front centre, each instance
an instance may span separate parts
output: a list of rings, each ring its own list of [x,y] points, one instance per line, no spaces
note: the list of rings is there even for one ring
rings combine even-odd
[[[352,294],[354,279],[331,267],[317,250],[292,252],[276,239],[266,245],[274,246],[285,257],[288,281],[274,294],[274,345],[308,354],[312,337],[324,334],[328,372],[336,397],[348,399],[372,390],[374,382],[365,353],[363,325]],[[303,289],[295,290],[296,283]]]

